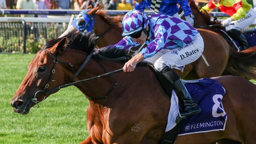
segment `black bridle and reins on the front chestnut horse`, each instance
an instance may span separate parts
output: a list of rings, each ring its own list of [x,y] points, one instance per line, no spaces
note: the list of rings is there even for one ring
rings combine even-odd
[[[69,49],[68,49],[68,50],[69,50]],[[73,67],[73,65],[72,65],[72,63],[67,63],[67,62],[65,62],[65,61],[61,61],[61,60],[58,59],[58,56],[59,56],[58,54],[60,54],[61,52],[58,52],[58,53],[56,54],[56,56],[54,56],[54,54],[52,54],[50,51],[46,50],[45,48],[41,49],[41,51],[47,52],[47,53],[52,57],[53,62],[54,62],[54,65],[53,65],[53,68],[52,68],[52,72],[51,72],[50,78],[49,78],[50,81],[55,81],[55,80],[52,79],[52,76],[55,74],[55,67],[56,67],[57,63],[63,63],[63,64],[65,64],[65,65],[71,66],[71,70],[72,70],[75,74],[72,75],[72,77],[71,77],[67,82],[65,82],[63,85],[60,85],[60,86],[58,86],[58,87],[55,87],[55,88],[53,88],[53,89],[51,89],[51,90],[46,91],[46,89],[50,86],[49,80],[48,80],[48,82],[46,83],[46,85],[45,85],[45,87],[43,88],[43,90],[38,90],[37,92],[35,92],[35,96],[34,96],[34,98],[31,100],[32,102],[36,103],[37,105],[38,105],[38,103],[43,102],[43,100],[45,100],[47,94],[50,94],[50,93],[52,93],[52,92],[54,92],[54,91],[56,91],[56,90],[62,89],[62,88],[64,88],[64,87],[69,87],[69,86],[71,86],[71,85],[76,85],[76,84],[78,84],[78,83],[83,83],[83,82],[89,81],[89,80],[91,80],[91,79],[101,78],[101,77],[103,77],[103,76],[108,76],[108,75],[110,75],[110,76],[115,80],[115,83],[114,83],[113,87],[107,92],[107,94],[105,94],[104,96],[99,97],[99,98],[90,98],[90,97],[88,97],[88,96],[85,96],[85,97],[86,97],[87,99],[89,99],[89,100],[101,100],[101,99],[107,98],[108,95],[115,89],[115,87],[116,87],[116,85],[117,85],[116,79],[115,79],[111,74],[114,74],[114,73],[117,73],[117,72],[121,72],[123,69],[121,68],[121,69],[119,69],[119,70],[114,70],[114,71],[112,71],[112,72],[108,72],[108,70],[102,65],[102,63],[100,63],[100,61],[98,60],[97,57],[99,57],[99,58],[101,58],[101,59],[110,60],[110,61],[121,61],[121,60],[124,60],[124,59],[128,59],[128,57],[119,57],[119,58],[116,58],[116,59],[108,59],[108,58],[106,58],[106,57],[103,57],[103,56],[100,55],[100,54],[93,55],[93,51],[92,51],[92,52],[87,56],[87,58],[85,59],[85,61],[83,62],[83,64],[80,66],[80,68],[79,68],[77,71],[75,71],[75,70],[74,70],[74,67]],[[78,76],[78,74],[83,70],[83,68],[84,68],[85,65],[88,63],[88,61],[91,59],[92,56],[95,56],[94,59],[96,59],[96,61],[98,61],[98,63],[100,64],[100,66],[101,66],[107,73],[102,74],[102,75],[100,75],[100,76],[95,76],[95,77],[93,77],[93,78],[83,79],[83,80],[80,80],[80,81],[76,81],[76,82],[69,83],[69,81],[71,81],[72,79],[74,79],[74,78],[76,78],[76,77]],[[44,97],[43,100],[41,100],[41,101],[38,101],[37,98],[36,98],[36,95],[37,95],[39,92],[42,92],[42,93],[45,95],[45,97]],[[38,105],[38,107],[35,107],[35,108],[39,108],[39,105]]]

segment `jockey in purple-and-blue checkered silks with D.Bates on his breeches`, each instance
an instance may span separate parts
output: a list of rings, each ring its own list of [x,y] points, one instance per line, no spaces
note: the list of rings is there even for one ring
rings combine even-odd
[[[200,113],[200,107],[192,100],[182,80],[172,69],[192,63],[200,57],[204,51],[204,41],[199,32],[180,18],[168,15],[148,17],[138,10],[124,15],[122,30],[124,38],[114,45],[116,48],[129,50],[144,42],[147,44],[139,54],[124,64],[124,72],[134,71],[136,64],[143,59],[154,63],[156,70],[173,79],[174,90],[185,107],[181,116],[186,118]],[[95,49],[94,54],[97,53]]]

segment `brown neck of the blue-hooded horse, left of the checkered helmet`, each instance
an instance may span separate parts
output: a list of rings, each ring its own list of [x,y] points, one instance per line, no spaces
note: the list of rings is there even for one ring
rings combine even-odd
[[[102,17],[100,17],[98,14],[95,14],[95,23],[94,23],[94,30],[96,35],[102,34],[104,31],[108,30],[112,25],[108,24],[106,20],[104,20]],[[104,46],[109,46],[112,44],[116,44],[122,39],[122,28],[119,28],[117,26],[113,26],[111,30],[109,30],[107,33],[102,35],[98,39],[97,46],[99,48]]]

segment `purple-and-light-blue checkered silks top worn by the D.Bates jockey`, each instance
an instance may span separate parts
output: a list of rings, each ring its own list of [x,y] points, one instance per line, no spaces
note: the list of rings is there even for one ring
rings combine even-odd
[[[177,47],[184,47],[191,43],[193,37],[198,33],[185,20],[168,15],[151,15],[147,23],[150,25],[149,39],[145,41],[147,46],[140,52],[144,58],[152,57],[161,49],[171,50]],[[133,41],[132,37],[126,36],[115,44],[115,47],[129,50],[129,48],[138,45],[139,42]]]

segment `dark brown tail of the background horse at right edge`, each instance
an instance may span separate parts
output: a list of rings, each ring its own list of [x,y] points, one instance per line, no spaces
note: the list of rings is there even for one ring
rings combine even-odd
[[[226,71],[231,75],[256,79],[256,46],[237,52],[230,47]]]

